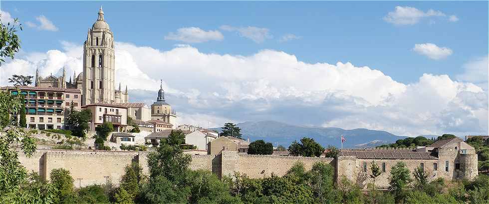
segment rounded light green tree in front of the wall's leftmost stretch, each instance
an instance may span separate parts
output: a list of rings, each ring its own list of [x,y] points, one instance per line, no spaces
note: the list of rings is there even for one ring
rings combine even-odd
[[[54,203],[69,204],[73,203],[74,190],[73,178],[68,170],[63,168],[53,169],[49,175],[51,183],[56,188]]]

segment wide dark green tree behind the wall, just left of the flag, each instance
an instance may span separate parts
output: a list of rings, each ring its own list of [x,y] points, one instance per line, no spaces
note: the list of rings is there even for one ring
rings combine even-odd
[[[288,151],[292,156],[319,157],[324,152],[324,148],[312,138],[302,138],[300,143],[292,142]]]

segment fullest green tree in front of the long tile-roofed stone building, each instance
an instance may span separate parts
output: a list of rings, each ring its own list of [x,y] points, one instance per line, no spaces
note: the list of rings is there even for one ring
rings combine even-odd
[[[411,183],[411,176],[409,169],[406,167],[406,163],[398,162],[391,168],[391,176],[389,178],[389,189],[394,193],[396,197],[396,203],[399,203],[404,199],[405,190],[409,183]]]

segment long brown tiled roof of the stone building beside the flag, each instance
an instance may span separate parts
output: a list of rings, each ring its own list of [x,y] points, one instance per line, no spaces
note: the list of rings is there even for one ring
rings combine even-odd
[[[407,152],[407,151],[364,151],[364,150],[342,150],[339,156],[354,156],[358,159],[425,159],[436,160],[437,157],[428,152]]]

